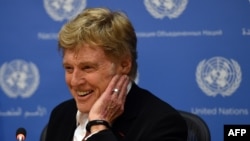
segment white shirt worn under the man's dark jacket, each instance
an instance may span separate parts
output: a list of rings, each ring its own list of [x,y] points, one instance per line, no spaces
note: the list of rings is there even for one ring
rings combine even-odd
[[[127,87],[127,94],[130,91],[132,87],[132,83],[130,82]],[[81,113],[79,110],[76,113],[76,130],[74,133],[73,141],[82,141],[84,138],[87,139],[91,137],[95,133],[91,133],[86,137],[86,125],[88,123],[88,114],[87,113]]]

